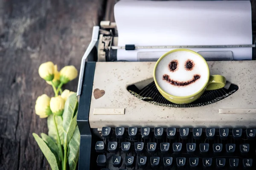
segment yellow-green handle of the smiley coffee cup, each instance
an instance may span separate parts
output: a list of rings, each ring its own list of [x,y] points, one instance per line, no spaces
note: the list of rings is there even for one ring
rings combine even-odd
[[[207,88],[205,90],[217,90],[226,85],[226,78],[221,75],[210,75]]]

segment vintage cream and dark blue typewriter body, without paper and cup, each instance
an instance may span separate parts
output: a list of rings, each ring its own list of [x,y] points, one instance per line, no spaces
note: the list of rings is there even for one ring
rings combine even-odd
[[[79,170],[256,169],[254,48],[250,60],[208,58],[227,85],[176,105],[157,91],[155,61],[120,61],[117,42],[102,21],[81,61]]]

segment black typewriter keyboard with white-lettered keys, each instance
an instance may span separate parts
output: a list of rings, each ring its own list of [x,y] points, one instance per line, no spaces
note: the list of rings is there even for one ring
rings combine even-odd
[[[99,170],[256,170],[256,129],[102,127]]]

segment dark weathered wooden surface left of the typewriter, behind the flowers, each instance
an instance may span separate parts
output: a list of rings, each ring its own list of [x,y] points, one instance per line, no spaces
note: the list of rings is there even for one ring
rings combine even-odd
[[[50,169],[32,133],[47,133],[35,100],[53,95],[38,75],[42,62],[75,65],[102,18],[103,0],[0,1],[0,170]],[[77,89],[78,79],[66,88]]]

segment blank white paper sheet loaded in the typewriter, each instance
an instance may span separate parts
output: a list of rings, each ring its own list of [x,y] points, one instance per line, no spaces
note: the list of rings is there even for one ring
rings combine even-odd
[[[251,4],[243,1],[120,0],[114,7],[118,46],[252,44]],[[232,51],[233,59],[252,59],[252,48],[191,48]],[[117,50],[117,59],[137,61],[138,53],[172,49]],[[152,54],[151,54],[152,55]],[[154,55],[154,53],[153,53]],[[152,57],[152,56],[151,56]]]

